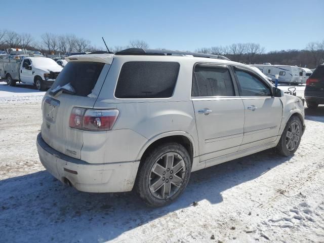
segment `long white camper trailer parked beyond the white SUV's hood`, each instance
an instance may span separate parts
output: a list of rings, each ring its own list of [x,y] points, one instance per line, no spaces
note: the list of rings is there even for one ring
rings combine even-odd
[[[279,83],[288,83],[288,84],[302,84],[302,79],[299,76],[299,70],[296,66],[288,65],[253,65],[260,69],[268,77],[275,79],[275,75],[278,74]]]

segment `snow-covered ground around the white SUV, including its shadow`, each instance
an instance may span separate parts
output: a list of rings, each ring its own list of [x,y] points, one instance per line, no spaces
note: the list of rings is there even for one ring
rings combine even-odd
[[[0,242],[324,242],[324,106],[305,110],[294,156],[270,149],[194,172],[179,200],[151,209],[44,171],[43,94],[0,83]]]

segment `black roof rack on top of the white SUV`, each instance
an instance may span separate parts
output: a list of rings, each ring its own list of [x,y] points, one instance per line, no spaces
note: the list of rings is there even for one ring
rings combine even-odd
[[[142,49],[142,48],[129,48],[120,52],[116,52],[115,55],[144,55],[144,56],[193,56],[193,57],[206,57],[216,58],[230,61],[227,57],[221,55],[212,55],[196,52],[182,52],[172,50],[155,50],[155,49]]]

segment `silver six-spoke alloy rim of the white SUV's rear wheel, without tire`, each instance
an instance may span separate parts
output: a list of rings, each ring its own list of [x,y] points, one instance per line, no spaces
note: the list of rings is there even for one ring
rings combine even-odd
[[[186,166],[182,156],[168,152],[153,164],[149,178],[149,190],[158,199],[167,199],[180,189],[185,177]]]

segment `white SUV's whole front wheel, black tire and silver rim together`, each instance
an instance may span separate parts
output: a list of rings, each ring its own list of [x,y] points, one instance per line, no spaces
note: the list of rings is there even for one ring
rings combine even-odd
[[[290,117],[276,147],[279,153],[285,156],[293,155],[300,144],[302,133],[300,119],[297,116]]]

